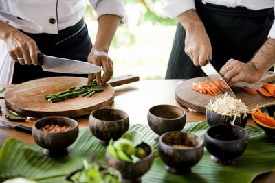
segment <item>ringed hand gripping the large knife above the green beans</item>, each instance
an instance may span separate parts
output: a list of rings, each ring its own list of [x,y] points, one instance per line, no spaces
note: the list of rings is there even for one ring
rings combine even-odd
[[[14,29],[14,27],[8,24],[4,25],[3,22],[1,22],[0,27],[2,25],[3,29],[5,29],[3,40],[7,44],[8,52],[12,59],[21,65],[37,65],[38,53],[40,51],[36,42],[26,34]]]

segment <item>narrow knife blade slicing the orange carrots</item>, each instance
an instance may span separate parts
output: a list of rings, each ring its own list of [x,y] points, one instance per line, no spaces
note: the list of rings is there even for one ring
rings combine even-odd
[[[228,86],[228,90],[227,90],[228,95],[230,95],[230,97],[234,97],[235,99],[237,99],[236,95],[234,94],[230,86],[225,82],[225,80],[223,80],[223,77],[219,75],[219,73],[216,71],[216,69],[214,69],[214,66],[212,66],[210,62],[207,61],[204,66],[201,66],[201,69],[203,70],[204,73],[206,73],[206,75],[210,78],[212,82],[214,82],[213,77],[216,78],[217,80],[222,80],[223,83],[226,86]]]

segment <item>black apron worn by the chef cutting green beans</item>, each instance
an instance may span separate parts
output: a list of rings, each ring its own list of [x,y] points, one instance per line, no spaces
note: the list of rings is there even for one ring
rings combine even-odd
[[[59,31],[58,34],[23,33],[34,39],[41,53],[45,53],[48,56],[56,56],[87,62],[87,57],[92,47],[87,25],[83,19],[76,23],[76,25]],[[15,62],[12,84],[19,84],[21,82],[43,77],[56,76],[88,77],[87,74],[46,72],[42,70],[41,66],[21,65]]]

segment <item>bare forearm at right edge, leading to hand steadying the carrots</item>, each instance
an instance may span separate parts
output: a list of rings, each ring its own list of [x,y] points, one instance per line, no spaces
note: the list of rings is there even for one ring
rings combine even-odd
[[[257,71],[266,73],[275,64],[275,39],[268,38],[263,46],[257,51],[250,63]]]

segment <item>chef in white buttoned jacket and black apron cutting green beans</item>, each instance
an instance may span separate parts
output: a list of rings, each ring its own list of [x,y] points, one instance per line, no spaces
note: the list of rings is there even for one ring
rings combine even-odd
[[[37,66],[39,52],[102,66],[104,73],[102,77],[96,73],[96,80],[100,85],[107,82],[113,74],[113,61],[108,56],[111,40],[118,25],[126,23],[124,1],[89,3],[98,16],[94,44],[83,21],[87,8],[84,0],[1,0],[0,83],[66,75],[42,71]],[[88,82],[93,79],[94,75],[89,75]]]

